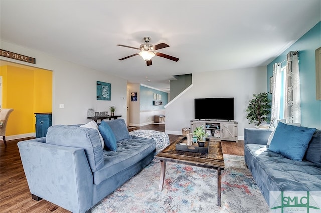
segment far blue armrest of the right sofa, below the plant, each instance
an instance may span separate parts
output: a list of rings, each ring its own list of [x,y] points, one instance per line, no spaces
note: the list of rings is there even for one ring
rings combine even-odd
[[[266,145],[273,130],[244,128],[244,145],[249,143]]]

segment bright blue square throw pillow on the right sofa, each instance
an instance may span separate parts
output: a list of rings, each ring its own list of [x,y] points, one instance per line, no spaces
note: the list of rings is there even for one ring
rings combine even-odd
[[[279,122],[268,149],[289,159],[302,161],[315,130]]]

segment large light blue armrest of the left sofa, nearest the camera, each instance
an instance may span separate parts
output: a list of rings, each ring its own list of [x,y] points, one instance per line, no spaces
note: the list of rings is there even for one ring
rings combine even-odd
[[[72,212],[93,204],[93,175],[81,148],[33,140],[18,142],[31,194]]]

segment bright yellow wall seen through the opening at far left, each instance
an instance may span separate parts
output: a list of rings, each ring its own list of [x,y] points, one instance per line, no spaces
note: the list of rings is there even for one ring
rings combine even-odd
[[[0,67],[2,108],[13,108],[6,136],[35,132],[35,112],[52,111],[52,72]]]

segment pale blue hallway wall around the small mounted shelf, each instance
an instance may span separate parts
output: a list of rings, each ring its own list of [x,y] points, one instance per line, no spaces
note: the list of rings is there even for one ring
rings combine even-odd
[[[152,101],[154,100],[154,93],[162,95],[163,106],[154,106],[152,105]],[[167,104],[167,96],[168,94],[163,91],[159,91],[156,89],[151,89],[145,86],[140,86],[140,111],[155,111],[155,110],[163,110],[164,106]]]

